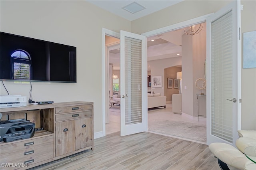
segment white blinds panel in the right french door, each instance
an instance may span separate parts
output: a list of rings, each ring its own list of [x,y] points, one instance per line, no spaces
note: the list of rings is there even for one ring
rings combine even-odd
[[[211,23],[211,119],[214,136],[232,139],[232,11]]]

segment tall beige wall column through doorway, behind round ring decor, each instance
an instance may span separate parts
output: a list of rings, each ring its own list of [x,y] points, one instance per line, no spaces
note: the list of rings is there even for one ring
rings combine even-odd
[[[200,89],[195,87],[196,79],[204,78],[206,59],[206,26],[199,34],[182,36],[182,113],[197,117],[197,95]],[[202,81],[198,82],[198,86]],[[185,89],[184,87],[187,87]],[[206,89],[202,90],[206,94]],[[206,108],[206,105],[205,105]]]

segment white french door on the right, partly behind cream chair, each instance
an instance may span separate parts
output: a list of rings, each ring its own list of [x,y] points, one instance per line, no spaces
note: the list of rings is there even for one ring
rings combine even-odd
[[[240,8],[240,1],[234,1],[206,20],[207,144],[226,142],[235,145],[238,138]]]

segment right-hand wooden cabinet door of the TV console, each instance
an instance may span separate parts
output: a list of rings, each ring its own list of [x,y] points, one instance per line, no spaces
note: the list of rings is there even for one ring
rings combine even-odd
[[[76,150],[92,146],[92,118],[76,119]]]

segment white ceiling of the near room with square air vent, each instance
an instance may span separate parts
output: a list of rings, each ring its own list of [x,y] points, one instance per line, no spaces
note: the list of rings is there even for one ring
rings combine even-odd
[[[116,14],[126,20],[133,21],[148,14],[162,10],[168,6],[172,6],[183,0],[87,0],[88,2]],[[134,3],[135,2],[135,3]],[[133,3],[133,4],[132,4]],[[139,12],[131,13],[124,7],[132,4],[130,11],[140,10]]]

